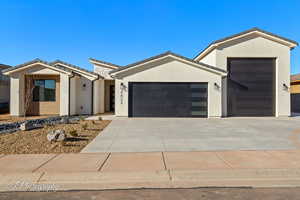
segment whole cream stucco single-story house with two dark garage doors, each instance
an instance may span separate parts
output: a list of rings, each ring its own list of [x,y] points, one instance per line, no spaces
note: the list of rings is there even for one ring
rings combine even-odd
[[[11,115],[124,117],[290,116],[290,50],[297,42],[253,28],[212,42],[195,58],[166,52],[127,66],[90,59],[94,72],[34,60],[11,76]],[[31,88],[31,87],[27,87]]]

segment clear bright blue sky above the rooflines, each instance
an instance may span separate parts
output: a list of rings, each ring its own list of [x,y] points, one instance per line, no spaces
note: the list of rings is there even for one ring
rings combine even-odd
[[[210,42],[259,27],[300,42],[299,0],[1,0],[0,63],[88,58],[126,65],[167,50],[192,58]],[[300,47],[291,53],[300,73]]]

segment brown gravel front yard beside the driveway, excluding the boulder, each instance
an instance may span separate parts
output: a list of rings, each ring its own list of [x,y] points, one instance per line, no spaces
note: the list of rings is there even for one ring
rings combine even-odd
[[[0,154],[78,153],[98,134],[101,134],[109,123],[108,120],[80,121],[3,134],[0,135]],[[86,129],[84,124],[87,124]],[[47,133],[56,129],[65,130],[66,141],[50,143],[47,140]],[[71,130],[77,130],[78,136],[72,136]]]

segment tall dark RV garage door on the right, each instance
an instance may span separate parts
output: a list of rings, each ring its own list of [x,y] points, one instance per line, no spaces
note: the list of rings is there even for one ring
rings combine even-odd
[[[273,116],[275,59],[228,60],[229,116]]]

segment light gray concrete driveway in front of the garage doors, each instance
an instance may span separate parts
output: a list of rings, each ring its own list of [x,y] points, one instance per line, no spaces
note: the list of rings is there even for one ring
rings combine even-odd
[[[300,118],[117,118],[82,152],[300,148]]]

